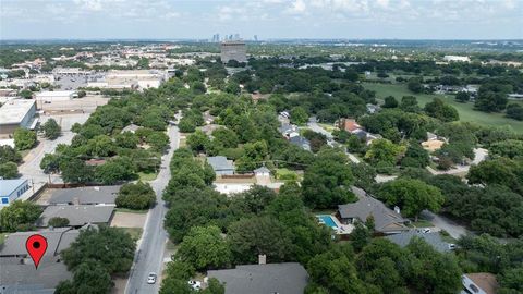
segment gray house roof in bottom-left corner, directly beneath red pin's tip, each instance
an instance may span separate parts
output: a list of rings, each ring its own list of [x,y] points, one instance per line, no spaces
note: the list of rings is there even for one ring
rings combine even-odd
[[[31,259],[0,257],[0,294],[51,294],[60,281],[72,273],[57,257],[44,257],[38,270]]]

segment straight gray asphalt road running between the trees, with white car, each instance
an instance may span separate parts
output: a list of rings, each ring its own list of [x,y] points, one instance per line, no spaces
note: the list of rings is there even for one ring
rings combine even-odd
[[[149,285],[147,284],[147,275],[149,272],[155,272],[158,277],[161,275],[161,264],[168,237],[167,232],[163,230],[163,217],[167,212],[167,207],[161,199],[161,194],[171,179],[169,162],[171,161],[172,152],[178,149],[180,142],[180,133],[177,126],[170,126],[168,133],[171,147],[169,152],[162,157],[158,176],[150,182],[156,192],[157,204],[147,215],[144,234],[138,244],[138,250],[134,256],[125,294],[158,293],[159,290],[159,280],[155,284]]]

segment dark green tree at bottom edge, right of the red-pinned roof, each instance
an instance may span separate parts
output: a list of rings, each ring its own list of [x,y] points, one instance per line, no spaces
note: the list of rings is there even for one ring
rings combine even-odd
[[[113,285],[111,275],[99,261],[87,260],[74,270],[73,280],[60,282],[54,293],[104,294],[110,293]]]

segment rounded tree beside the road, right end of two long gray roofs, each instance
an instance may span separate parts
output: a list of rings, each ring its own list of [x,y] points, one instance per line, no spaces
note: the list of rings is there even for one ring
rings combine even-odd
[[[156,194],[148,183],[138,181],[120,187],[115,204],[130,209],[148,209],[156,203]]]

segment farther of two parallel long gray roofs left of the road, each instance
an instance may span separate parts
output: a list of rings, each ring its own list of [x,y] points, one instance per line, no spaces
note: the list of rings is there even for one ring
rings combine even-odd
[[[49,204],[114,204],[120,186],[59,188],[52,192]]]

